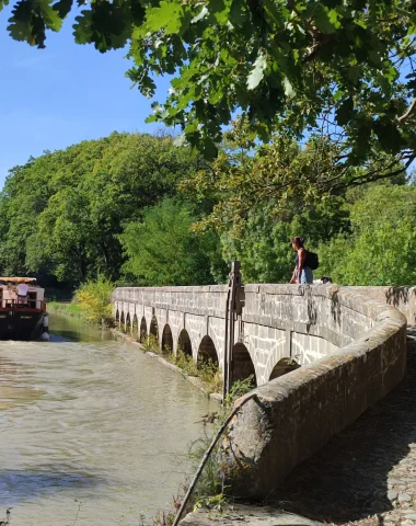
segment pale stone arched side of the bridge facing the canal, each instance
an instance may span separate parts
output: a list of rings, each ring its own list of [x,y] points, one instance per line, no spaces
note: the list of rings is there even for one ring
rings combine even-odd
[[[281,358],[314,363],[368,329],[369,321],[349,308],[331,323],[322,291],[324,296],[305,301],[303,287],[246,285],[245,305],[234,324],[233,379],[254,375],[261,386],[279,374]],[[127,332],[137,328],[141,342],[153,336],[162,348],[176,353],[181,347],[196,363],[209,357],[222,368],[227,294],[226,285],[117,288],[114,315]]]

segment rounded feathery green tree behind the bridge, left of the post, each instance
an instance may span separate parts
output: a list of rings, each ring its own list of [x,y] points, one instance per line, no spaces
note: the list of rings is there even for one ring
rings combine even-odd
[[[147,209],[141,222],[119,236],[123,271],[139,285],[207,285],[222,279],[226,267],[213,232],[192,231],[196,217],[188,204],[165,198]]]

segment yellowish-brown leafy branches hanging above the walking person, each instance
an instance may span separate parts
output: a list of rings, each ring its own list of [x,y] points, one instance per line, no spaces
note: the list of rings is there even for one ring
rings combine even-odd
[[[333,163],[339,150],[325,138],[311,137],[304,148],[291,140],[275,137],[253,152],[246,134],[236,129],[227,133],[229,148],[224,148],[209,167],[192,173],[183,181],[183,190],[195,190],[200,195],[215,195],[216,204],[205,224],[239,232],[253,210],[261,209],[268,219],[288,221],[293,213],[303,208],[320,207],[323,201],[330,208],[347,187],[368,182],[362,167],[344,167],[334,175]],[[382,178],[392,178],[383,170],[385,157],[380,158]],[[393,172],[403,173],[403,165]],[[380,174],[375,179],[382,179]],[[315,224],[319,229],[326,226]]]

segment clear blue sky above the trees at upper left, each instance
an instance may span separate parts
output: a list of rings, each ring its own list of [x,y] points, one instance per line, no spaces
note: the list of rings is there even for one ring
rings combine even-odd
[[[126,50],[104,55],[74,44],[72,23],[48,33],[46,49],[14,42],[5,28],[10,9],[0,13],[0,188],[8,170],[44,150],[117,132],[149,132],[151,101],[125,77]],[[158,79],[163,102],[166,78]]]

